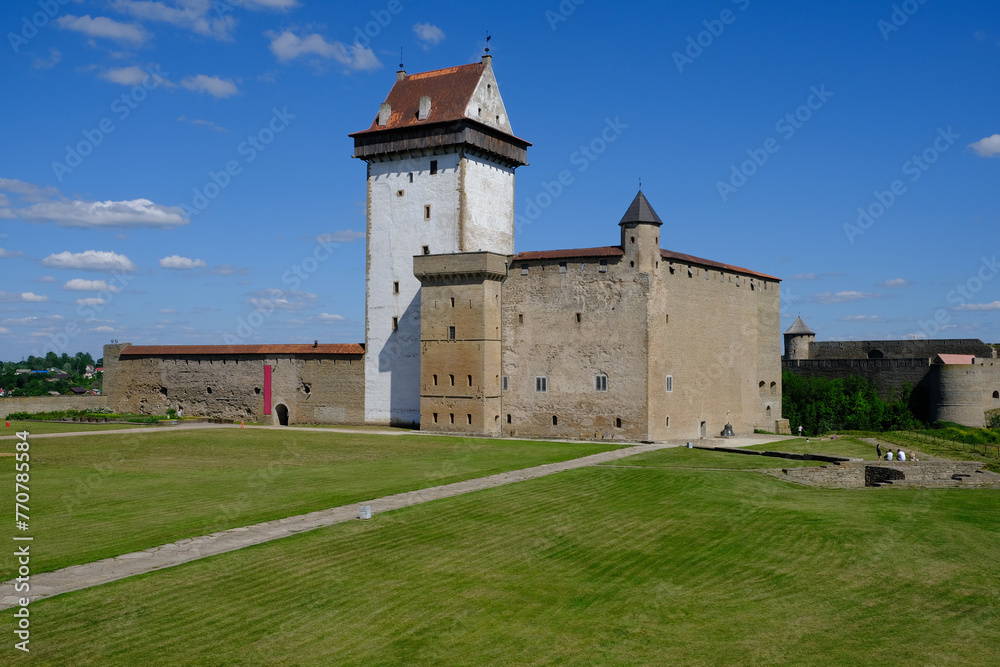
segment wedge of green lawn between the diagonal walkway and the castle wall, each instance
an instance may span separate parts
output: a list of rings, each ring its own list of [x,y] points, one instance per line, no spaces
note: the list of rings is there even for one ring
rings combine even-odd
[[[13,451],[14,441],[3,448]],[[32,572],[615,448],[263,429],[38,438]],[[0,485],[0,502],[13,508],[14,458],[0,466],[11,482]],[[3,580],[15,570],[12,559],[0,561]]]

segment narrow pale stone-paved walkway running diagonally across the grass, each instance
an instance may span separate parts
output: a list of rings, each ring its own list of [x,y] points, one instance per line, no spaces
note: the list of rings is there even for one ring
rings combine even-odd
[[[107,431],[104,431],[104,433],[107,433]],[[726,446],[729,447],[744,447],[764,442],[773,442],[780,438],[781,436],[748,435],[729,438],[725,441],[701,440],[699,441],[699,444],[722,444],[725,442]],[[451,498],[465,493],[471,493],[473,491],[491,489],[505,484],[513,484],[515,482],[523,482],[529,479],[545,477],[547,475],[563,472],[565,470],[594,466],[607,461],[616,461],[635,454],[652,452],[667,447],[680,446],[683,445],[679,442],[629,445],[622,447],[621,449],[601,452],[599,454],[584,456],[578,459],[571,459],[561,463],[547,463],[532,468],[524,468],[522,470],[514,470],[511,472],[499,473],[497,475],[470,479],[464,482],[434,486],[427,489],[421,489],[419,491],[397,493],[395,495],[385,496],[375,500],[342,505],[332,509],[310,512],[308,514],[300,514],[285,519],[266,521],[264,523],[243,526],[241,528],[231,528],[230,530],[212,533],[211,535],[178,540],[177,542],[171,542],[170,544],[164,544],[162,546],[145,549],[143,551],[127,553],[114,558],[105,558],[104,560],[85,563],[83,565],[72,565],[54,572],[44,572],[37,575],[33,574],[31,575],[30,597],[32,601],[41,600],[54,595],[80,590],[82,588],[99,586],[100,584],[106,584],[108,582],[124,579],[136,574],[143,574],[145,572],[152,572],[153,570],[173,567],[174,565],[180,565],[181,563],[198,560],[199,558],[206,558],[208,556],[214,556],[227,551],[235,551],[254,544],[270,542],[271,540],[288,537],[289,535],[294,535],[295,533],[301,533],[307,530],[314,530],[316,528],[323,528],[325,526],[343,523],[345,521],[357,519],[358,511],[361,505],[370,505],[372,515],[375,515],[380,512],[388,512],[402,507],[419,505],[431,500]],[[31,543],[25,542],[22,544]],[[0,587],[0,609],[9,609],[10,607],[15,606],[19,596],[23,597],[24,593],[15,593],[13,581],[4,582],[2,587]]]

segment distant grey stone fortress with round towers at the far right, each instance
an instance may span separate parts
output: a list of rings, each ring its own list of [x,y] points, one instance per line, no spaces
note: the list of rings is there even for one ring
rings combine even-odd
[[[860,375],[883,398],[913,387],[910,407],[921,419],[983,426],[1000,409],[1000,359],[978,339],[816,342],[802,318],[785,331],[784,370],[806,376]]]

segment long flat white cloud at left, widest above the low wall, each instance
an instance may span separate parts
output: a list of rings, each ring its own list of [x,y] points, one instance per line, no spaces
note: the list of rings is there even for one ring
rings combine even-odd
[[[25,220],[55,222],[67,227],[180,227],[189,220],[178,206],[162,206],[148,199],[123,201],[59,201],[17,209]]]

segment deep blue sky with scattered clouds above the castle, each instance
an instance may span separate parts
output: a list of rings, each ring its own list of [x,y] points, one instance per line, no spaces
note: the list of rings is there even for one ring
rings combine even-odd
[[[519,251],[616,244],[641,178],[663,247],[784,280],[782,329],[1000,342],[1000,6],[623,7],[3,3],[0,359],[363,341],[347,134],[400,47],[448,67],[487,31],[534,144]]]

